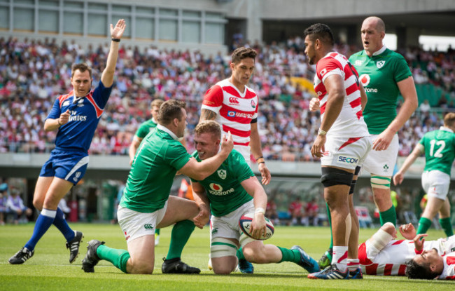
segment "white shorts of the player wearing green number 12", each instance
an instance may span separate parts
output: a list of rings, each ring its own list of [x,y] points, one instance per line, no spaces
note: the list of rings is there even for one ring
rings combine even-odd
[[[445,172],[432,170],[422,173],[422,187],[428,196],[445,200],[449,193],[450,176]]]

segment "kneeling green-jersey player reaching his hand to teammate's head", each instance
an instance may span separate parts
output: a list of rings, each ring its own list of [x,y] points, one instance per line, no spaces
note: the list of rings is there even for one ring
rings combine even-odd
[[[223,136],[221,149],[205,161],[197,162],[179,142],[186,128],[185,102],[168,100],[161,105],[158,126],[141,142],[134,157],[125,192],[118,207],[118,224],[125,234],[128,250],[117,250],[92,240],[82,262],[85,272],[93,272],[106,259],[125,273],[153,273],[155,228],[174,225],[169,252],[162,273],[200,273],[181,261],[181,253],[195,229],[193,220],[200,209],[194,201],[169,196],[176,172],[204,180],[228,158],[234,147],[232,136]]]

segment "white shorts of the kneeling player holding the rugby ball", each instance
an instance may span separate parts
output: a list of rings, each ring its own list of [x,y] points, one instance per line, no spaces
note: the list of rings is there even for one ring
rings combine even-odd
[[[246,213],[254,213],[253,200],[241,205],[237,210],[230,212],[228,215],[222,217],[215,217],[212,215],[210,219],[210,244],[214,238],[234,238],[239,241],[241,247],[252,241],[256,241],[255,239],[246,236],[246,234],[240,230],[239,219],[241,215]]]

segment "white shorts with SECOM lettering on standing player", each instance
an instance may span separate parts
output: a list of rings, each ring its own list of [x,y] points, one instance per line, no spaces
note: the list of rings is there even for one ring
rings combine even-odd
[[[363,163],[371,147],[370,137],[330,137],[325,142],[321,165],[353,170]]]

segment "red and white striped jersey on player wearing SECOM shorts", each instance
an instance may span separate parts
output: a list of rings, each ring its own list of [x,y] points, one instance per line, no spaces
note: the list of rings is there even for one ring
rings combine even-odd
[[[344,55],[335,52],[328,53],[316,64],[314,91],[319,98],[321,120],[323,120],[328,100],[324,81],[333,74],[342,76],[346,97],[344,97],[342,110],[327,135],[330,137],[369,136],[367,125],[363,121],[358,73]]]

